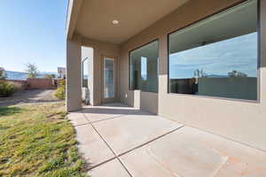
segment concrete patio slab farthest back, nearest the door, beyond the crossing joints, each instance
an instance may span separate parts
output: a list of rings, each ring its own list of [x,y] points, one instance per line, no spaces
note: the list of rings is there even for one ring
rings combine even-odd
[[[127,115],[93,123],[113,151],[120,155],[183,125],[159,116]]]

